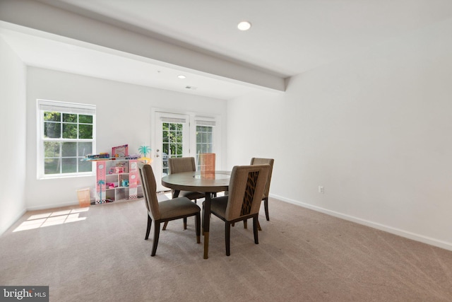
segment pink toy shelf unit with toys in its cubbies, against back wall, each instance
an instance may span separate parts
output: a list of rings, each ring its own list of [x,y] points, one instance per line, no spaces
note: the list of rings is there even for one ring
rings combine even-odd
[[[138,175],[138,160],[98,160],[96,163],[95,204],[126,201],[143,197]]]

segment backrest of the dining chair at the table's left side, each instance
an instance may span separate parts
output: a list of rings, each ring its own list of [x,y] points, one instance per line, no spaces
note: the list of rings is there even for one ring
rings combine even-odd
[[[138,163],[140,170],[141,185],[143,185],[143,195],[146,208],[152,219],[160,219],[160,209],[157,200],[157,183],[153,168],[148,163]]]

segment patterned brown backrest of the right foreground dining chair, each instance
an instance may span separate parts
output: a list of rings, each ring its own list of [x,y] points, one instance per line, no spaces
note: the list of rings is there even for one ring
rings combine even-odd
[[[236,165],[232,168],[225,219],[257,214],[261,207],[270,165]]]

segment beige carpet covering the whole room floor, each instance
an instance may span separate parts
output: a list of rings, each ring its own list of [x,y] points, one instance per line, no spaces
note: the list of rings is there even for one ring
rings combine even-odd
[[[452,301],[451,251],[276,199],[258,245],[251,221],[232,228],[230,257],[213,216],[208,260],[194,219],[150,257],[143,200],[86,209],[28,212],[0,236],[0,285],[49,285],[50,301]]]

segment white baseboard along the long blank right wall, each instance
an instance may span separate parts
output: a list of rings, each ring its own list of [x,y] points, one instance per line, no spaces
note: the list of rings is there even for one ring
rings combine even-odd
[[[270,197],[273,197],[275,199],[278,199],[278,200],[281,200],[283,202],[287,202],[287,203],[290,203],[290,204],[295,204],[295,205],[297,205],[299,207],[304,207],[304,208],[311,209],[311,210],[314,210],[314,211],[319,211],[319,212],[324,213],[324,214],[335,216],[335,217],[338,217],[340,219],[345,219],[347,221],[352,221],[352,222],[355,222],[355,223],[359,223],[359,224],[362,224],[364,226],[370,226],[371,228],[376,228],[377,230],[380,230],[380,231],[385,231],[385,232],[392,233],[394,235],[398,235],[398,236],[401,236],[401,237],[404,237],[404,238],[416,240],[416,241],[419,241],[419,242],[422,242],[422,243],[427,243],[429,245],[434,245],[434,246],[436,246],[438,248],[444,248],[445,250],[452,250],[452,243],[448,243],[446,241],[437,240],[435,238],[430,238],[430,237],[427,237],[427,236],[422,236],[422,235],[417,234],[417,233],[412,233],[412,232],[409,232],[409,231],[400,230],[399,228],[393,228],[391,226],[385,226],[385,225],[383,225],[381,223],[375,223],[373,221],[368,221],[368,220],[360,219],[360,218],[357,218],[357,217],[354,217],[354,216],[342,214],[342,213],[339,213],[337,211],[331,211],[331,210],[328,210],[328,209],[324,209],[322,207],[316,207],[316,206],[314,206],[312,204],[306,204],[304,202],[299,202],[297,200],[285,198],[285,197],[278,196],[278,195],[275,195],[275,194],[270,194]]]

